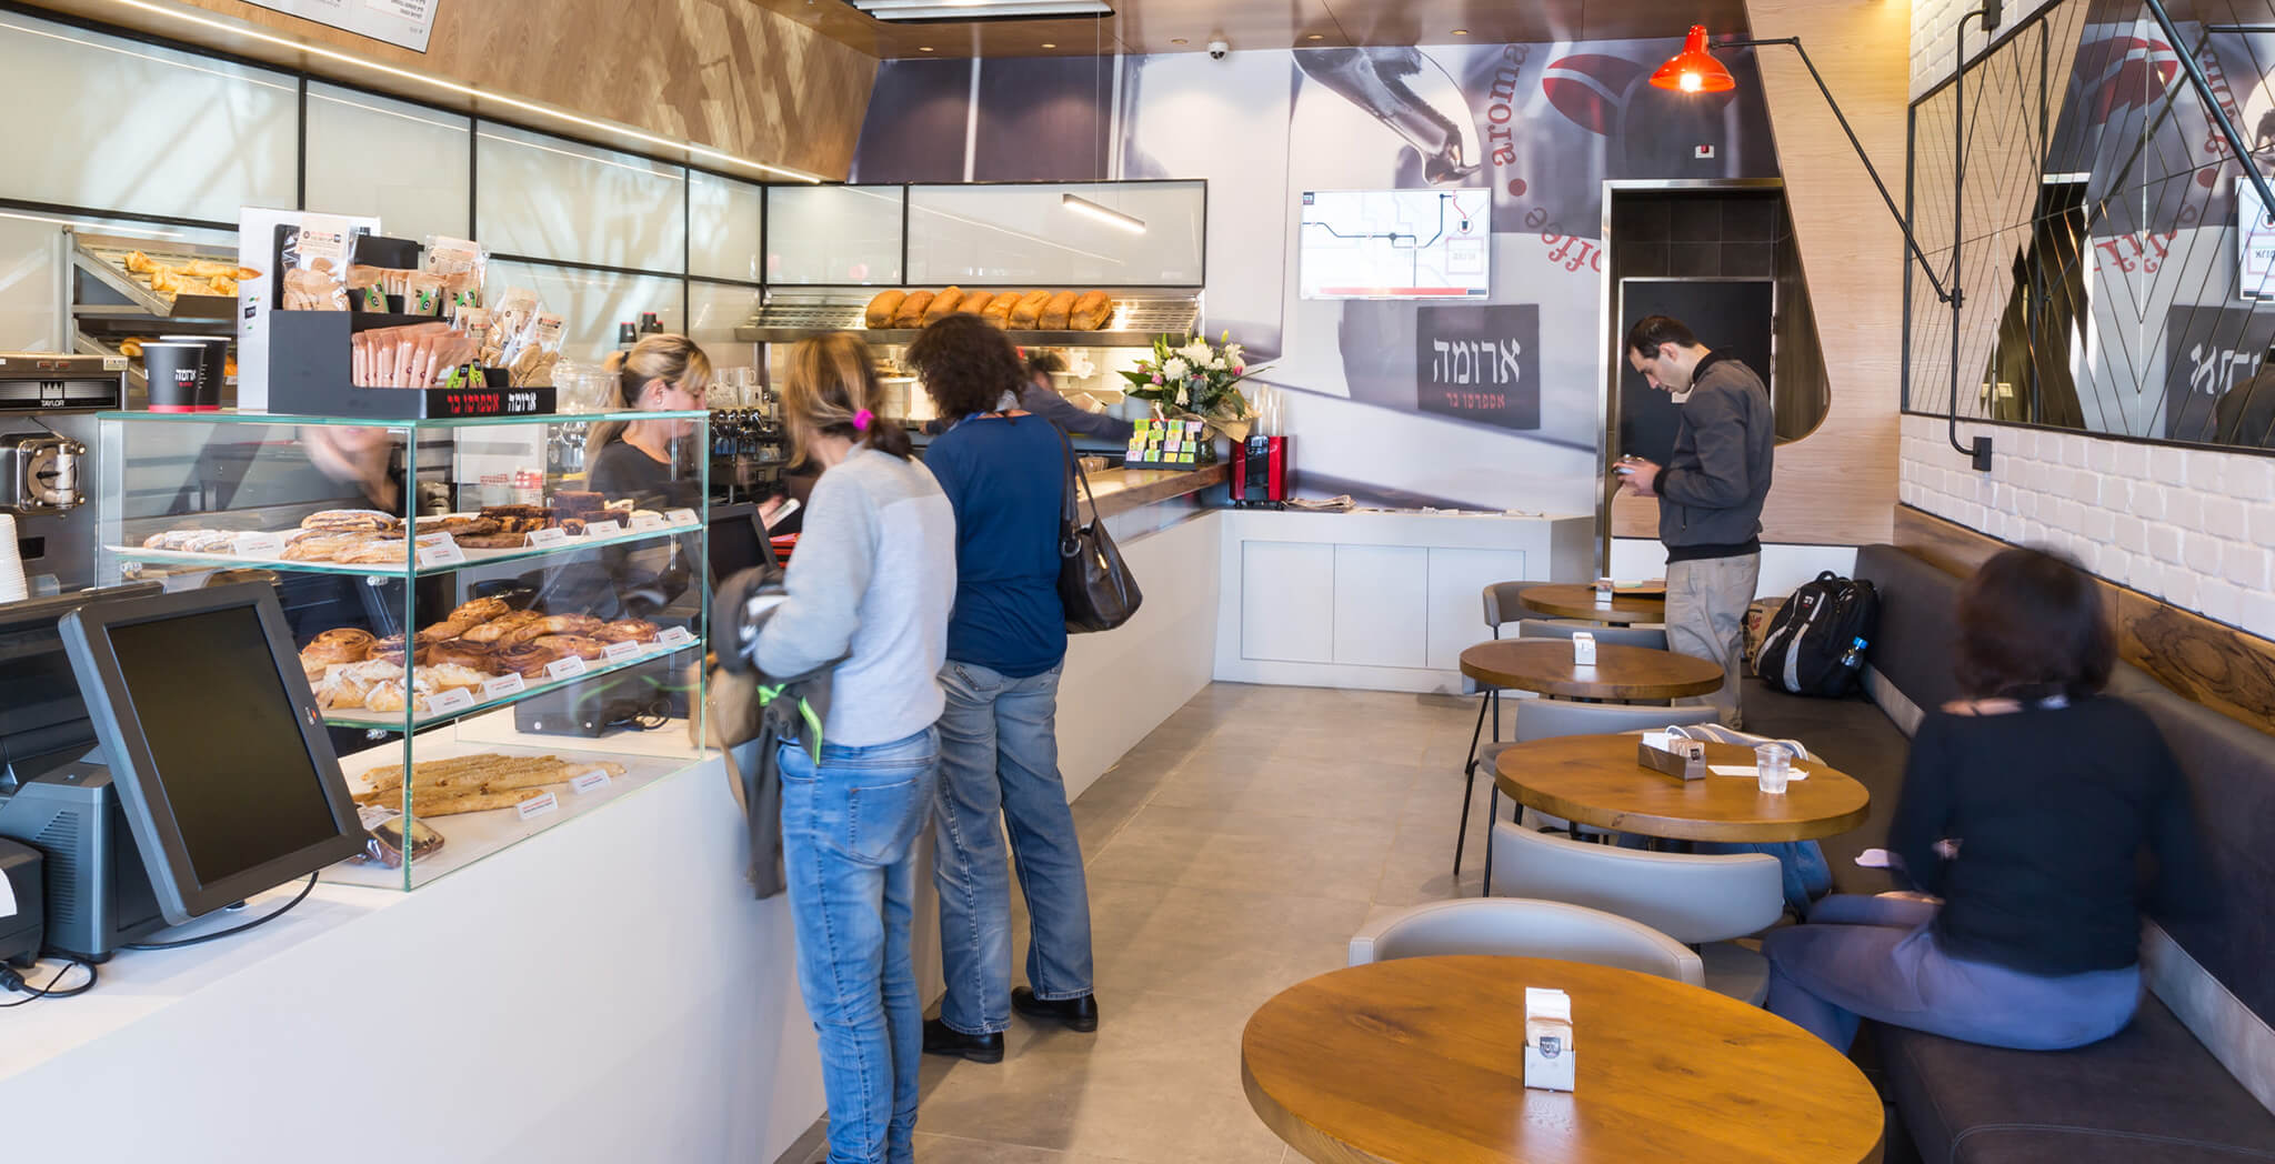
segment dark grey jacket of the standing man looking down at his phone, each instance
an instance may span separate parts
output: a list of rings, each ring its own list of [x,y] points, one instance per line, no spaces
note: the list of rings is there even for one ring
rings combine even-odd
[[[1681,409],[1674,455],[1654,487],[1658,541],[1670,562],[1722,557],[1761,537],[1777,448],[1770,391],[1754,368],[1709,352]]]

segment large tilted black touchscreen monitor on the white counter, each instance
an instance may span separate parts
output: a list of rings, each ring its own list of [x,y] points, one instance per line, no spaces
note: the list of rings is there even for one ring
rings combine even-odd
[[[102,602],[61,625],[168,923],[364,848],[275,589]]]

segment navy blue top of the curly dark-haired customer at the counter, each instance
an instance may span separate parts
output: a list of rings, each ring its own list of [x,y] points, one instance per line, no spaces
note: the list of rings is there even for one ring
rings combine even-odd
[[[956,507],[949,659],[1008,677],[1067,657],[1058,605],[1058,516],[1067,452],[1040,416],[969,416],[924,450]]]

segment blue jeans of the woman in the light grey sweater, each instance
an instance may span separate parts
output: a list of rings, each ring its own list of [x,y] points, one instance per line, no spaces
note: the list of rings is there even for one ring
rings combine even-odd
[[[910,1164],[924,1005],[908,955],[917,834],[940,734],[869,748],[785,746],[783,871],[799,928],[799,991],[821,1041],[830,1164]]]

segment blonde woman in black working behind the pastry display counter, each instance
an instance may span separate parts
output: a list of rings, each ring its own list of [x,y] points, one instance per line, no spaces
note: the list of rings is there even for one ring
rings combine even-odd
[[[696,341],[673,334],[642,339],[614,352],[603,368],[617,373],[607,411],[696,411],[712,380],[710,357]],[[601,421],[585,436],[585,480],[607,498],[635,498],[642,509],[696,505],[694,421]]]

